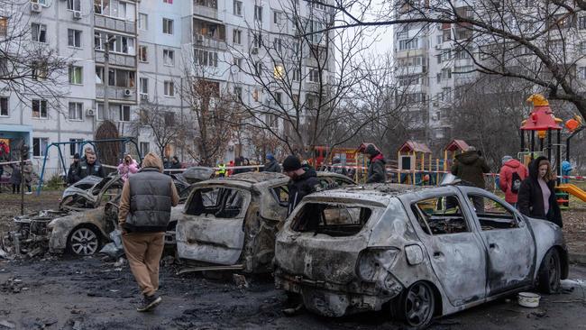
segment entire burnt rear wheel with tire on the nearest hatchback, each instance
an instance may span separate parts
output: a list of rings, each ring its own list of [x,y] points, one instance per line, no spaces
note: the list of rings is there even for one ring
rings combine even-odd
[[[435,294],[426,281],[413,283],[390,305],[391,315],[404,322],[409,329],[425,329],[434,318]]]

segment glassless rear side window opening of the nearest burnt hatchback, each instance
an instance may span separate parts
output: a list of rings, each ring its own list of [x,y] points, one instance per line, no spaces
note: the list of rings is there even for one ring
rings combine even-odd
[[[458,234],[470,232],[455,195],[420,200],[411,206],[417,223],[426,234]]]

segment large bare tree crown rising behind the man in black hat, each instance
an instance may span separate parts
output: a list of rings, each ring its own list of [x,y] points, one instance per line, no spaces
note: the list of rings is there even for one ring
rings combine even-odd
[[[366,28],[327,32],[337,13],[301,4],[282,1],[281,11],[270,17],[270,31],[250,25],[250,44],[231,52],[233,77],[244,74],[258,87],[237,98],[243,123],[310,158],[316,145],[349,142],[376,119],[350,102],[353,87],[364,79],[360,54],[372,41]]]

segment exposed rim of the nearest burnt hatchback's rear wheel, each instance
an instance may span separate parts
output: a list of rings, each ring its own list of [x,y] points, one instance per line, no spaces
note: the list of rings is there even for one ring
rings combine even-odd
[[[405,316],[409,325],[425,325],[433,314],[433,296],[425,283],[417,283],[407,292]]]

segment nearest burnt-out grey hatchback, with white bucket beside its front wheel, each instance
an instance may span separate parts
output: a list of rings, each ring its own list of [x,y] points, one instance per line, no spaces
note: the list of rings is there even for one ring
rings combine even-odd
[[[319,192],[304,198],[275,243],[277,288],[300,295],[310,311],[388,308],[415,328],[519,290],[555,292],[567,274],[557,225],[472,187]]]

